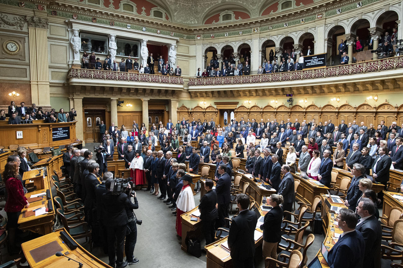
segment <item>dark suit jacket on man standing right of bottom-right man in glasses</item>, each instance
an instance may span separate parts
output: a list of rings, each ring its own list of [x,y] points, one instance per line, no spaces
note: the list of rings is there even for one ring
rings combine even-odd
[[[375,208],[376,209],[376,208]],[[379,268],[380,267],[380,244],[382,229],[380,222],[374,215],[358,223],[355,227],[364,237],[365,253],[364,263],[362,267]]]

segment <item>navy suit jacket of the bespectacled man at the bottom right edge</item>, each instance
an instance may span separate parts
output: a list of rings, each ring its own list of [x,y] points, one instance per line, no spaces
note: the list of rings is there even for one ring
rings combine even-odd
[[[364,260],[364,238],[358,231],[346,233],[330,249],[328,253],[328,264],[332,268],[357,268],[363,267]],[[368,256],[366,256],[368,258]]]

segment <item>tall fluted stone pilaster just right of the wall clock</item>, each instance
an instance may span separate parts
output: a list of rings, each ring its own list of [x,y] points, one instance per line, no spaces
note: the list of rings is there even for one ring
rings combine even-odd
[[[29,34],[29,69],[31,98],[36,106],[50,107],[48,28],[49,21],[26,16]]]

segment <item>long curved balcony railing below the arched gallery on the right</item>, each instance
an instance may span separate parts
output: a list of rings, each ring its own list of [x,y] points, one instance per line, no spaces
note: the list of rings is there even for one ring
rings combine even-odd
[[[190,78],[188,86],[211,86],[231,84],[254,84],[267,82],[295,81],[304,79],[346,76],[351,74],[364,74],[380,72],[403,67],[403,56],[364,61],[347,65],[325,67],[312,70],[283,72],[274,74],[257,74],[250,76],[228,76],[211,78]]]

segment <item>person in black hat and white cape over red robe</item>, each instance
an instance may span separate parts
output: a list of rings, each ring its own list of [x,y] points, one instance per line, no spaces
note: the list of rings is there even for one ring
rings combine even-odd
[[[185,174],[181,178],[183,182],[183,187],[181,192],[178,195],[177,199],[177,221],[176,221],[176,230],[177,234],[182,237],[182,223],[181,223],[181,215],[186,211],[194,209],[195,199],[193,198],[192,189],[189,187],[190,184],[194,184],[192,181],[192,177],[189,174]]]

